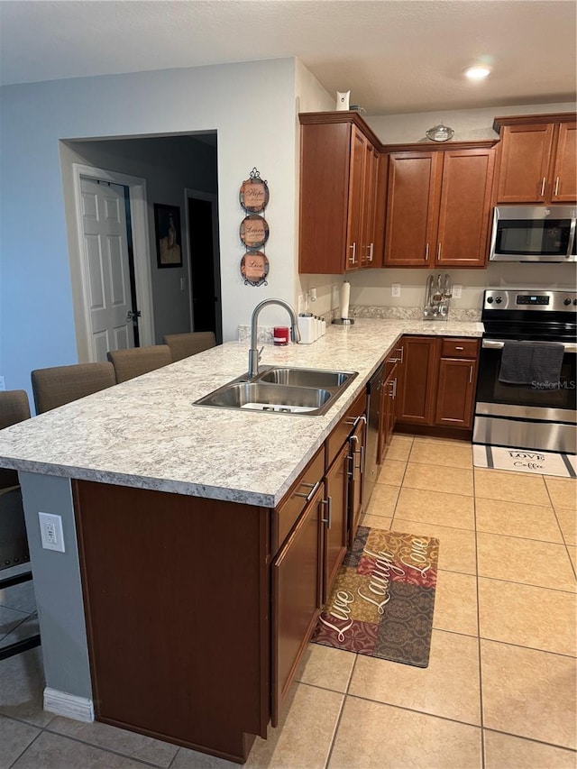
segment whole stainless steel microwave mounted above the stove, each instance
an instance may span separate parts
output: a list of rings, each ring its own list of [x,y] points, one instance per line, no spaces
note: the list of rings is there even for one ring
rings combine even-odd
[[[575,206],[495,206],[490,261],[577,261]]]

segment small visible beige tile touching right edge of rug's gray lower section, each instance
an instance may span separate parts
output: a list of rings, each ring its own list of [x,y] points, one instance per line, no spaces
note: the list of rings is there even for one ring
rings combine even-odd
[[[433,627],[466,636],[479,635],[476,577],[457,572],[437,572]]]

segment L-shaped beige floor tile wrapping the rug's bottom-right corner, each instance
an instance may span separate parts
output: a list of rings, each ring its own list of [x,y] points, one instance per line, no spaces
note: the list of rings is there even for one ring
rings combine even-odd
[[[359,655],[349,693],[478,725],[479,641],[434,630],[426,669]]]

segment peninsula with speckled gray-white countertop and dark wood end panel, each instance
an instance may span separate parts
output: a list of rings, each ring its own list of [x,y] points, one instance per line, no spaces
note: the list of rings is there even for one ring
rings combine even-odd
[[[23,486],[46,709],[88,720],[94,708],[243,762],[278,723],[294,673],[283,655],[302,633],[285,627],[279,653],[292,593],[275,570],[320,526],[303,514],[279,534],[288,492],[311,468],[320,481],[325,443],[402,334],[481,333],[357,319],[314,344],[266,345],[263,365],[359,372],[322,417],[193,405],[246,371],[248,345],[225,343],[2,431],[0,465]],[[66,552],[41,548],[39,511],[62,517]]]

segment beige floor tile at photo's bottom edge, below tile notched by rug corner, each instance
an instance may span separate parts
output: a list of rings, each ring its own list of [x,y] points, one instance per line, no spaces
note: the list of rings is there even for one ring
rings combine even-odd
[[[479,769],[480,729],[347,697],[328,769]]]

